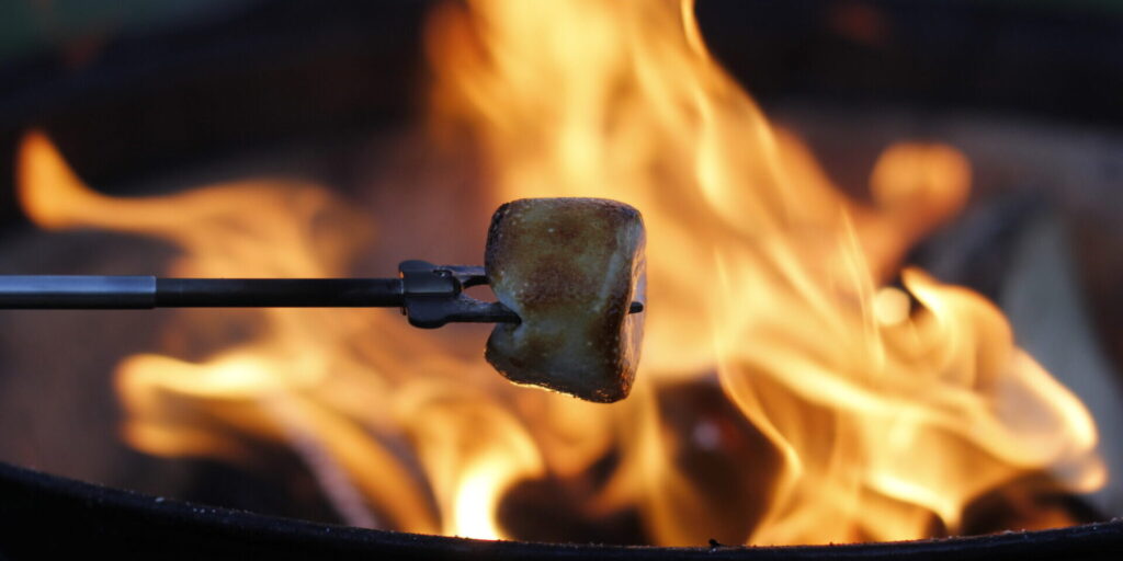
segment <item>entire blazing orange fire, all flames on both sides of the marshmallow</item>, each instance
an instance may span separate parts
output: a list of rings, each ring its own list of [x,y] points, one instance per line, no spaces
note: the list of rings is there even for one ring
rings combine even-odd
[[[428,45],[435,130],[477,144],[492,185],[481,197],[601,196],[645,213],[650,305],[632,397],[512,387],[463,352],[482,334],[439,338],[393,311],[195,311],[177,328],[253,337],[126,359],[131,445],[245,461],[284,443],[353,524],[487,539],[519,537],[497,513],[528,480],[579,495],[572,508],[591,519],[634,511],[667,545],[957,533],[973,499],[1026,473],[1102,485],[1092,417],[1002,314],[901,270],[966,201],[970,165],[955,148],[892,146],[873,203],[848,199],[718,66],[688,1],[447,4]],[[38,134],[19,164],[37,223],[161,238],[182,250],[168,275],[344,276],[378,239],[319,185],[113,199]],[[736,419],[702,408],[684,427],[670,413],[684,385],[720,387]],[[691,447],[724,458],[724,479]],[[751,465],[722,456],[734,450]]]

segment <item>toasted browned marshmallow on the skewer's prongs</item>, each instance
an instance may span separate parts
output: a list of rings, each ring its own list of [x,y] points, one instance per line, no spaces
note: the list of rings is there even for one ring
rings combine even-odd
[[[485,357],[503,376],[582,399],[628,396],[645,313],[643,220],[605,199],[522,199],[500,206],[484,265],[522,320],[499,324]]]

